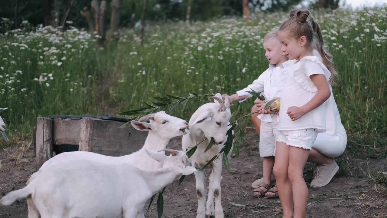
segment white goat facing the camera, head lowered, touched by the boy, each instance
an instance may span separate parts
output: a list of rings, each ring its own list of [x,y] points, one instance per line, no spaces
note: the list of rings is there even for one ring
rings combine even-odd
[[[224,102],[222,97],[224,97]],[[231,127],[228,126],[231,117],[228,96],[217,93],[214,97],[211,97],[211,99],[214,99],[214,103],[204,104],[192,114],[190,121],[188,122],[190,133],[183,135],[182,139],[182,147],[183,151],[185,151],[207,138],[207,140],[198,145],[195,153],[190,158],[192,166],[199,168],[202,168],[212,157],[221,151],[224,147],[224,142],[227,140],[227,130]],[[214,138],[215,144],[211,149],[205,151],[211,138]],[[230,154],[231,152],[229,152],[227,158],[230,158]],[[198,198],[197,218],[224,217],[221,204],[222,160],[223,157],[221,155],[211,163],[212,172],[209,176],[207,203],[205,202],[205,188],[207,181],[205,172],[195,172],[196,193]]]

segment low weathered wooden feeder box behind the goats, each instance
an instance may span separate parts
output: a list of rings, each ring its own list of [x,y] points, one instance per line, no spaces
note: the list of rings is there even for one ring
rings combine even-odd
[[[128,119],[107,116],[38,117],[34,127],[36,171],[55,154],[90,151],[108,156],[123,156],[139,150],[147,131],[118,128]],[[129,137],[130,136],[130,137]]]

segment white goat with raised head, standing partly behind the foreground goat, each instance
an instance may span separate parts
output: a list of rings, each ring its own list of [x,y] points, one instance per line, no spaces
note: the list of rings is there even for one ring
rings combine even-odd
[[[146,120],[149,120],[149,123],[142,122]],[[103,163],[109,162],[111,164],[128,163],[142,170],[156,170],[161,168],[163,164],[147,156],[145,149],[152,151],[165,149],[171,138],[178,137],[189,132],[187,121],[170,116],[164,111],[160,111],[155,114],[148,114],[140,118],[139,121],[132,120],[131,124],[137,130],[149,131],[145,144],[139,151],[120,157],[106,156],[86,151],[64,152],[46,162],[50,163],[53,159],[55,159],[56,164],[61,164],[62,161],[67,161],[67,159],[71,157],[84,160],[101,161]],[[162,152],[162,154],[165,154],[165,152]],[[43,164],[39,171],[44,170],[46,165],[47,164]]]

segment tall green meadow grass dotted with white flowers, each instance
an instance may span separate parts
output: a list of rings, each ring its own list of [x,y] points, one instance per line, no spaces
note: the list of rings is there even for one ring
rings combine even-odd
[[[386,9],[313,14],[339,73],[333,93],[348,133],[344,155],[387,157]],[[6,32],[8,21],[3,21],[0,106],[10,108],[1,115],[11,140],[0,139],[0,147],[31,138],[37,116],[116,116],[166,93],[235,93],[268,67],[262,38],[286,17],[274,13],[248,23],[234,17],[191,26],[160,23],[147,26],[144,46],[138,29],[123,29],[118,42],[104,50],[75,28],[31,31],[24,23],[24,28]],[[232,106],[232,119],[249,113],[253,100]],[[205,102],[188,102],[171,115],[188,119]]]

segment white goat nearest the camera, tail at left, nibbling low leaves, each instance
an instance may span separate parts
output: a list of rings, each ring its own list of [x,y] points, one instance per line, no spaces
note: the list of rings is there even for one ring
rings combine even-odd
[[[197,171],[188,166],[183,151],[144,151],[163,168],[144,171],[126,163],[69,158],[60,167],[48,164],[46,171],[34,173],[26,187],[10,192],[0,204],[30,197],[35,208],[28,208],[28,218],[144,218],[149,198],[182,175]],[[164,151],[171,155],[162,154]]]

